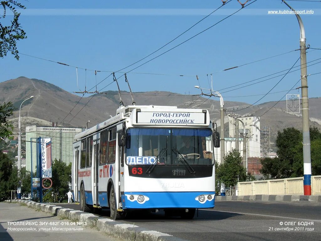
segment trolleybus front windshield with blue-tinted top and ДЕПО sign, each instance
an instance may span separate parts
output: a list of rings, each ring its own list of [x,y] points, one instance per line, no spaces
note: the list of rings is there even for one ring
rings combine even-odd
[[[130,128],[126,135],[126,164],[213,165],[211,129]]]

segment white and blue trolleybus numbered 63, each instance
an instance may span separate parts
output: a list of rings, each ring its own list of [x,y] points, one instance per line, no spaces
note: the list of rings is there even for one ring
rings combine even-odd
[[[116,115],[75,136],[72,192],[81,210],[165,210],[192,219],[213,208],[213,147],[219,133],[205,109],[121,106]]]

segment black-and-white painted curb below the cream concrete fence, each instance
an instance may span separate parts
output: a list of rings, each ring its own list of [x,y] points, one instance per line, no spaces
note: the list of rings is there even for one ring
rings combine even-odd
[[[215,201],[311,201],[320,202],[321,195],[247,195],[247,196],[215,196]]]

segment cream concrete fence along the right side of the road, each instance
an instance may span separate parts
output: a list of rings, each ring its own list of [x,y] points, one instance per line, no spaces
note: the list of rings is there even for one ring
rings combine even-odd
[[[238,195],[303,195],[303,177],[238,183]],[[321,176],[311,176],[311,194],[321,194]]]

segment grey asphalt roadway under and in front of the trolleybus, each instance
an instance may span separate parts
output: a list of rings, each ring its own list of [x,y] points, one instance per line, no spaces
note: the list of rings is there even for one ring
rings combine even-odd
[[[59,206],[79,210],[79,205],[75,204]],[[127,215],[124,222],[191,241],[319,241],[321,239],[320,214],[321,205],[308,201],[291,203],[217,201],[214,209],[199,210],[198,216],[195,215],[193,220],[165,217],[164,212],[160,211],[158,213],[134,212]],[[109,212],[103,210],[100,215],[108,217]],[[280,222],[283,224],[280,225]],[[313,222],[313,225],[310,223],[304,226],[301,222]],[[295,231],[295,228],[298,230]]]

